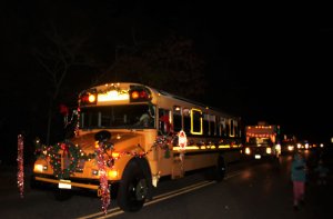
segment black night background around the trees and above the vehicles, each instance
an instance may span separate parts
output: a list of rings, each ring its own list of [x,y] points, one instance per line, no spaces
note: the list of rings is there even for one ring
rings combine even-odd
[[[89,40],[83,53],[93,60],[88,68],[70,68],[54,109],[60,103],[74,108],[78,93],[114,63],[117,48],[133,48],[133,36],[150,46],[175,34],[190,39],[204,61],[201,72],[206,86],[188,98],[240,115],[244,125],[268,121],[300,140],[330,142],[333,28],[314,27],[300,10],[290,8],[213,1],[4,1],[0,159],[16,160],[19,133],[27,138],[29,155],[36,137],[46,139],[54,84],[36,51],[52,49],[48,41],[52,29],[69,36],[67,40],[84,32]],[[118,74],[109,76],[120,80]],[[137,82],[138,78],[125,79]],[[172,78],[165,83],[179,82]],[[189,84],[189,90],[199,89],[198,81]],[[60,116],[53,111],[53,142],[62,135]]]

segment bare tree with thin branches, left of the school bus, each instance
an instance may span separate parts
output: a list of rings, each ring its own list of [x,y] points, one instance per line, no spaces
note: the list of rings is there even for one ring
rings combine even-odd
[[[47,143],[50,142],[52,118],[58,107],[56,103],[63,99],[62,96],[73,92],[73,89],[69,89],[70,81],[73,83],[72,79],[75,77],[73,68],[80,66],[93,68],[95,64],[83,50],[84,43],[89,39],[88,34],[67,36],[62,34],[56,26],[49,27],[50,30],[44,34],[44,44],[33,48],[33,54],[43,69],[41,76],[47,79],[49,98]]]

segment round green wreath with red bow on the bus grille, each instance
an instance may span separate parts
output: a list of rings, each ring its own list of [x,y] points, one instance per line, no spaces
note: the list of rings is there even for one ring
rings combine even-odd
[[[61,169],[61,155],[59,153],[59,150],[63,151],[63,156],[69,157],[70,165],[68,168]],[[72,142],[64,141],[57,143],[49,148],[48,153],[50,158],[50,165],[53,169],[53,175],[58,179],[67,179],[75,171],[80,158],[80,149]]]

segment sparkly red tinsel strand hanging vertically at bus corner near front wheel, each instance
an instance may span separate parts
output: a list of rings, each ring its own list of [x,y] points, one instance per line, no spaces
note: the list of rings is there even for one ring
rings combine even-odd
[[[102,201],[102,210],[107,215],[108,207],[110,205],[110,189],[108,183],[108,175],[105,168],[105,160],[103,155],[105,153],[103,142],[99,143],[99,148],[97,150],[97,161],[100,173],[100,190],[101,190],[101,201]]]

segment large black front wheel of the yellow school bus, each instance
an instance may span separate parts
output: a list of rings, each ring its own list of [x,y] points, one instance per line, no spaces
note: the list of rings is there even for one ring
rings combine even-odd
[[[148,195],[148,181],[140,166],[130,161],[119,185],[117,201],[123,211],[139,211]]]

